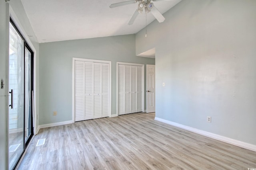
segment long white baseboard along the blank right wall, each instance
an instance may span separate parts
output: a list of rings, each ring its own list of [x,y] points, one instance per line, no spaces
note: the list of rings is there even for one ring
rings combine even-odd
[[[161,119],[161,118],[158,118],[158,117],[155,117],[155,120],[166,123],[166,124],[169,124],[169,125],[172,125],[172,126],[175,126],[175,127],[180,127],[182,129],[186,129],[188,131],[198,133],[198,134],[204,135],[206,137],[217,139],[219,141],[230,143],[230,144],[236,145],[238,147],[242,147],[242,148],[245,148],[245,149],[250,149],[250,150],[256,151],[256,145],[252,145],[250,143],[245,143],[245,142],[238,141],[238,140],[235,140],[235,139],[231,139],[231,138],[228,138],[228,137],[224,137],[224,136],[221,136],[221,135],[216,135],[214,133],[210,133],[210,132],[207,132],[207,131],[202,131],[202,130],[199,130],[199,129],[196,129],[196,128],[193,128],[193,127],[189,127],[189,126],[186,126],[186,125],[182,125],[182,124],[179,124],[179,123],[175,123],[175,122],[172,122],[172,121]]]

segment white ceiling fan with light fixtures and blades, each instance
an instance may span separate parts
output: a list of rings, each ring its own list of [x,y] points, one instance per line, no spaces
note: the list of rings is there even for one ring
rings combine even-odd
[[[152,0],[152,1],[168,1],[168,0]],[[137,18],[138,14],[143,12],[145,9],[145,13],[151,12],[153,16],[158,20],[158,22],[163,22],[165,20],[164,16],[158,11],[158,9],[154,6],[154,4],[151,2],[151,0],[128,0],[124,2],[119,2],[115,4],[111,4],[110,8],[115,8],[118,6],[128,5],[128,4],[134,4],[138,2],[138,8],[135,10],[134,14],[132,15],[130,21],[128,22],[128,25],[132,25],[135,19]]]

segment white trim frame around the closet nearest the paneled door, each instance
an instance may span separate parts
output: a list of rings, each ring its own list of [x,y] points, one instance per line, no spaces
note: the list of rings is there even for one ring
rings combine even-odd
[[[119,98],[118,98],[118,67],[119,65],[128,65],[128,66],[142,66],[142,111],[145,110],[144,108],[144,100],[145,100],[145,96],[144,96],[144,90],[145,90],[145,84],[144,84],[144,64],[137,64],[137,63],[123,63],[123,62],[116,62],[116,116],[119,115],[118,113],[118,107],[119,107]]]

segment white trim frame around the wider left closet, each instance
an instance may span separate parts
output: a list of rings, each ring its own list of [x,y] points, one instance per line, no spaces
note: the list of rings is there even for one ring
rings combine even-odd
[[[111,61],[94,60],[94,59],[83,59],[83,58],[72,58],[72,122],[75,122],[75,61],[85,61],[92,63],[107,63],[109,64],[109,117],[111,117],[111,106],[112,106],[112,79],[111,79]]]

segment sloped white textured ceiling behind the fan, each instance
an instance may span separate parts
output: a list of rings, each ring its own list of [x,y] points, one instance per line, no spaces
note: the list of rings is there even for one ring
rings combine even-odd
[[[145,14],[139,14],[133,25],[127,24],[138,3],[109,8],[126,0],[21,1],[39,43],[133,34],[146,26]],[[180,1],[154,2],[154,6],[163,14]],[[154,19],[147,14],[147,23]]]

